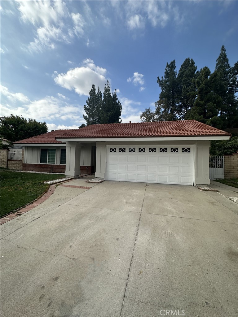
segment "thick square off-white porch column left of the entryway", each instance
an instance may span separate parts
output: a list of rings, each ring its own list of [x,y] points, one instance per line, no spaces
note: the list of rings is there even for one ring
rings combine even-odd
[[[80,175],[80,154],[80,143],[66,142],[66,166],[64,172],[65,176]]]

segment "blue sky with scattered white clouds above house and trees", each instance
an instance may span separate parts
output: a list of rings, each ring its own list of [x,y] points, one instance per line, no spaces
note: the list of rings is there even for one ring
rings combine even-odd
[[[1,1],[1,115],[77,128],[92,84],[107,80],[122,122],[159,99],[175,59],[213,72],[222,45],[237,61],[237,1]]]

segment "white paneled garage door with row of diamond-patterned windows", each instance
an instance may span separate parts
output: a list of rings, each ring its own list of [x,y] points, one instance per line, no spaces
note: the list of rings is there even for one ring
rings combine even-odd
[[[106,179],[193,185],[194,146],[107,146]]]

